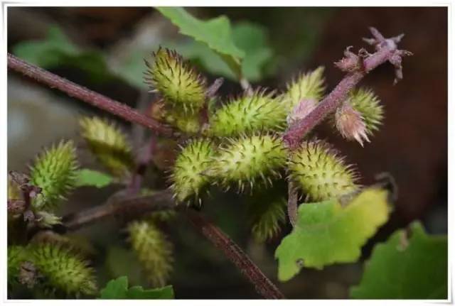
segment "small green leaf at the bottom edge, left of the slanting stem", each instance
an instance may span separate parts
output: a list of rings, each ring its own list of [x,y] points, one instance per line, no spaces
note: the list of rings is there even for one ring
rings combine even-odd
[[[173,299],[173,297],[171,285],[155,289],[143,289],[141,286],[128,289],[127,276],[109,280],[106,287],[100,290],[100,298],[102,299],[157,300]]]

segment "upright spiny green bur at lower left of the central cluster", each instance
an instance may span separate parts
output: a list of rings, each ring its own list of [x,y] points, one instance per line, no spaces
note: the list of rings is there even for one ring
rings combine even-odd
[[[193,139],[182,148],[171,174],[171,188],[177,202],[184,202],[191,197],[200,202],[200,191],[209,181],[205,172],[214,154],[213,145],[208,139]]]

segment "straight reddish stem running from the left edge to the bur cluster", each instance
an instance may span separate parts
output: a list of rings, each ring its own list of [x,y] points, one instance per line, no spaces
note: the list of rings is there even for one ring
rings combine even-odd
[[[131,121],[137,124],[146,126],[149,129],[156,131],[156,133],[161,133],[164,136],[172,136],[172,129],[168,126],[165,126],[159,121],[156,121],[149,116],[141,114],[139,111],[132,109],[126,104],[122,104],[113,99],[93,92],[90,89],[82,87],[78,84],[75,84],[69,80],[54,75],[51,72],[43,70],[40,67],[31,65],[30,63],[16,58],[16,56],[8,53],[8,67],[16,72],[21,72],[27,77],[48,85],[51,88],[57,88],[62,92],[65,92],[70,97],[75,97],[87,102],[95,107],[108,111],[111,114],[121,117],[127,121]]]

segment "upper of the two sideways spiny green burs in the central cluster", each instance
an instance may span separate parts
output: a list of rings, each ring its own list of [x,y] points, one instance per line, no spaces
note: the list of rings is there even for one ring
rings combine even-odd
[[[243,94],[218,109],[210,117],[210,136],[237,136],[255,131],[281,131],[286,126],[287,109],[265,90]]]

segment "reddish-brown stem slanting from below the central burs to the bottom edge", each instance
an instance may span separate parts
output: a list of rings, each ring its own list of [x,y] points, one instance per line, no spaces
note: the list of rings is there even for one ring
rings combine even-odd
[[[283,299],[284,295],[251,261],[242,248],[237,246],[221,229],[209,222],[198,212],[188,211],[188,219],[205,238],[225,253],[243,275],[255,285],[257,293],[267,299]]]

